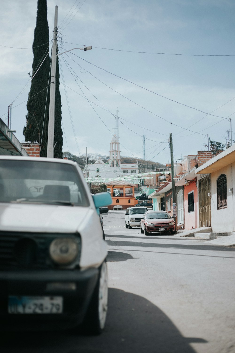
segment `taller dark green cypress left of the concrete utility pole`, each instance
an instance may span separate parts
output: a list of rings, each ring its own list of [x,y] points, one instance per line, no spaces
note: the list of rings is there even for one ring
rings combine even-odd
[[[24,127],[23,134],[25,141],[33,142],[36,140],[41,143],[41,157],[46,157],[50,96],[50,89],[47,92],[50,74],[47,0],[38,0],[32,49],[32,81],[27,101],[28,113],[26,115],[26,126]],[[41,67],[39,68],[40,65]],[[36,73],[37,70],[38,72]]]

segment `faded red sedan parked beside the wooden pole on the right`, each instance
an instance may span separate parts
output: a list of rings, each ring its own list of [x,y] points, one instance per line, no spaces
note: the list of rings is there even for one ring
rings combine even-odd
[[[140,229],[144,235],[152,232],[171,232],[175,234],[175,222],[166,211],[147,211],[141,218]]]

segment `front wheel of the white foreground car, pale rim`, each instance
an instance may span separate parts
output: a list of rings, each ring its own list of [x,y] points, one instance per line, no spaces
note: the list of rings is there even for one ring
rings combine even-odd
[[[88,335],[99,335],[104,329],[108,308],[107,265],[103,262],[86,317],[82,325]]]

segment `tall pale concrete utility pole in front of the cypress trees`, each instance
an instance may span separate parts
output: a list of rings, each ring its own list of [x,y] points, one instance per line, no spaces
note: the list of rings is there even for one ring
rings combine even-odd
[[[48,120],[48,140],[47,140],[48,158],[54,157],[57,22],[58,22],[58,6],[56,5],[55,17],[54,17],[54,36],[53,36],[52,53],[51,53],[51,85],[50,85],[50,104],[49,104],[49,120]]]

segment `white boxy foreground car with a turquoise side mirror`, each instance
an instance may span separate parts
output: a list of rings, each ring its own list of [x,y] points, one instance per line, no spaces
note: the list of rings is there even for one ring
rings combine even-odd
[[[0,319],[4,328],[84,323],[101,333],[107,312],[107,249],[99,207],[78,164],[0,156]]]

